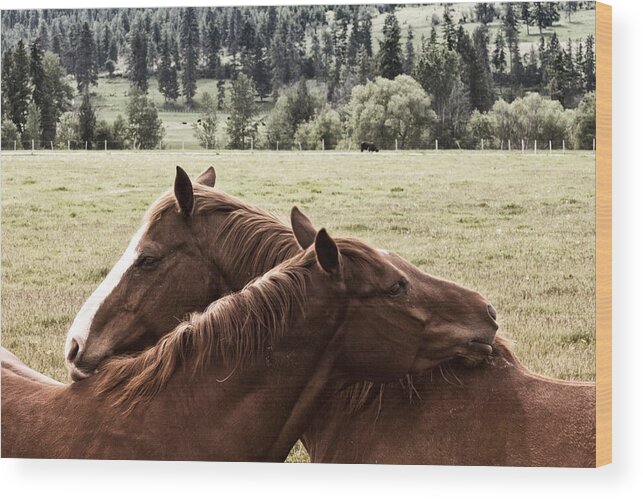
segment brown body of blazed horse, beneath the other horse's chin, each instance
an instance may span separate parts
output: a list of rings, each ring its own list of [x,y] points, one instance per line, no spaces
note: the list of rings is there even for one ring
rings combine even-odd
[[[596,465],[595,386],[529,372],[501,340],[470,369],[450,363],[374,391],[351,410],[329,400],[303,440],[313,462],[476,466]],[[452,364],[452,365],[451,365]]]

